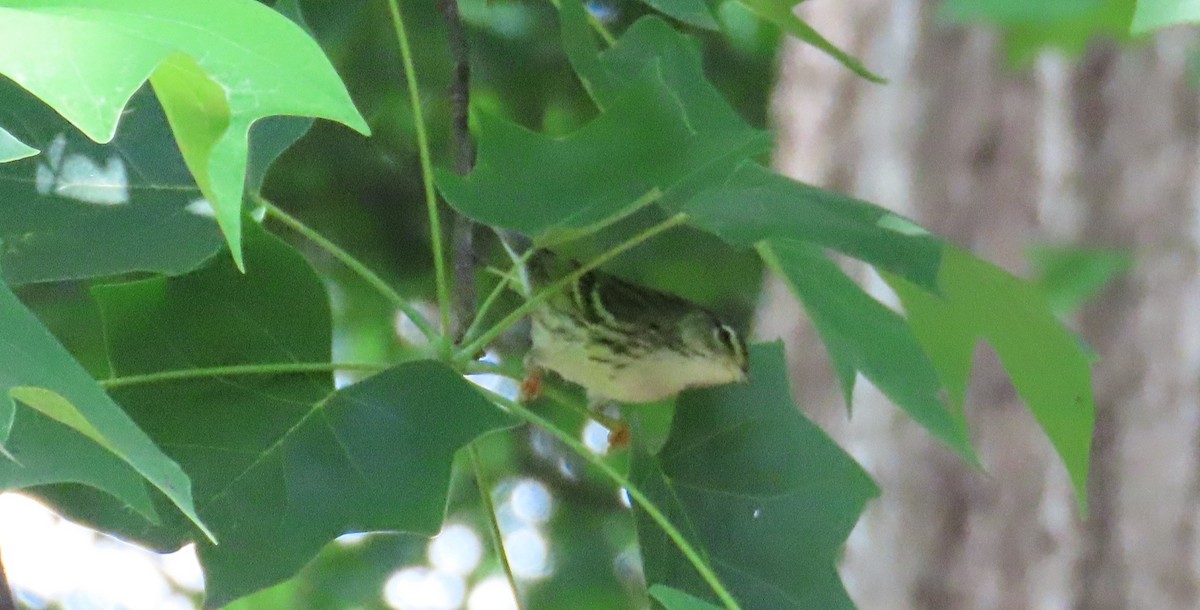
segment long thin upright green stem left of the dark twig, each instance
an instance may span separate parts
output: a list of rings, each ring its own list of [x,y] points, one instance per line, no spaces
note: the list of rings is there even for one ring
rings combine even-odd
[[[421,159],[421,180],[425,186],[425,207],[430,214],[430,240],[433,244],[433,274],[437,281],[438,312],[442,319],[442,334],[436,343],[438,354],[450,360],[452,342],[450,340],[450,286],[446,279],[445,251],[442,247],[442,219],[438,213],[438,197],[433,190],[433,162],[430,160],[430,138],[425,133],[425,116],[421,113],[421,96],[416,84],[416,70],[413,67],[413,52],[408,46],[408,34],[404,31],[404,19],[400,13],[398,0],[388,0],[391,24],[396,30],[396,42],[400,43],[400,59],[404,65],[404,80],[408,84],[408,101],[413,106],[413,128],[416,131],[416,148]]]

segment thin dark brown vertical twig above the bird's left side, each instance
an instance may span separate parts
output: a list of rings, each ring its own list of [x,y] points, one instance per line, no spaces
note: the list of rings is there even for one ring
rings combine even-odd
[[[442,0],[454,79],[450,82],[450,127],[454,132],[454,171],[467,175],[475,166],[475,143],[470,139],[470,48],[462,31],[458,0]],[[475,309],[475,223],[460,214],[454,221],[455,337],[463,337]]]

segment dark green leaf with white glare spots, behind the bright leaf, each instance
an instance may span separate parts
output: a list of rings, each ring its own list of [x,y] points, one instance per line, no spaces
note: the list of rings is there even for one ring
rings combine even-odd
[[[0,165],[0,262],[11,285],[130,271],[174,275],[220,251],[211,208],[149,88],[133,96],[104,145],[7,82],[0,82],[0,124],[42,149]],[[254,126],[251,187],[307,126],[290,116]]]

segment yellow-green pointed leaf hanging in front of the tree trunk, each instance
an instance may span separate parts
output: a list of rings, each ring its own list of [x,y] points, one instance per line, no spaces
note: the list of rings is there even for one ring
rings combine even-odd
[[[941,294],[884,275],[908,315],[913,334],[961,405],[979,340],[1004,365],[1018,395],[1067,466],[1080,512],[1087,508],[1087,467],[1096,424],[1087,353],[1055,317],[1042,292],[1004,270],[947,246]]]

